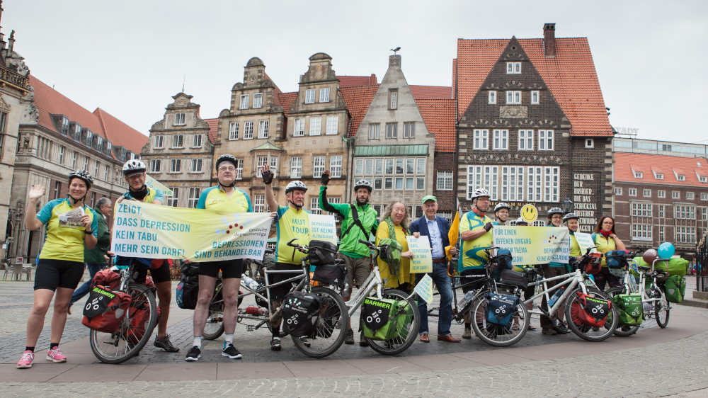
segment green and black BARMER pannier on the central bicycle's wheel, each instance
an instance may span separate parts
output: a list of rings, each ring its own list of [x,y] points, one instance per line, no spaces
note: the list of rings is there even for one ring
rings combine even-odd
[[[364,336],[372,340],[391,340],[399,335],[399,322],[404,321],[407,302],[366,297],[361,307]],[[406,307],[409,307],[406,305]],[[403,314],[401,314],[403,312]]]

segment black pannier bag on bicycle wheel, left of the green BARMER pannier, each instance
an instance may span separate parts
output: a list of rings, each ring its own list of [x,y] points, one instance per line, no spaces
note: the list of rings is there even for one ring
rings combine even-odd
[[[312,336],[319,315],[319,299],[312,293],[290,292],[282,305],[282,330],[291,336]]]

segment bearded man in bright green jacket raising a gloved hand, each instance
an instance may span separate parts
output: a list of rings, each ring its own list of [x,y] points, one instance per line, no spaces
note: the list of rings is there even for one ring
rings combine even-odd
[[[321,183],[322,185],[319,187],[319,208],[342,217],[339,258],[343,258],[345,261],[347,280],[350,285],[356,285],[357,288],[360,288],[371,272],[371,261],[369,248],[361,244],[359,239],[370,240],[370,234],[376,235],[376,229],[379,227],[379,223],[376,220],[376,210],[369,205],[373,186],[367,180],[358,180],[354,183],[356,203],[329,203],[327,200],[329,171],[325,171],[322,174]],[[349,297],[350,295],[347,295],[343,298],[346,301],[349,300]],[[344,343],[354,343],[354,331],[351,328],[347,330]],[[364,339],[360,340],[360,345],[366,345]]]

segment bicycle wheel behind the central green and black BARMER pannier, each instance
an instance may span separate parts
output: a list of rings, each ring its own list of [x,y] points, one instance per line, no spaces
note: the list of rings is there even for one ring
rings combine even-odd
[[[405,305],[399,308],[397,316],[404,319],[397,325],[398,336],[391,340],[372,340],[364,338],[369,346],[379,354],[393,356],[406,351],[418,338],[418,329],[421,327],[421,314],[418,312],[418,304],[409,294],[397,289],[385,289],[382,292],[383,298],[405,301]]]

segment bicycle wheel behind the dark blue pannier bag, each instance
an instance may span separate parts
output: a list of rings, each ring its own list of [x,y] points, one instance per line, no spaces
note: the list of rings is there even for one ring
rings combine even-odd
[[[516,314],[508,325],[493,324],[486,319],[486,304],[489,301],[484,297],[486,293],[486,290],[477,293],[468,306],[474,334],[490,346],[506,347],[518,343],[525,336],[531,322],[526,306],[523,302],[519,302],[516,306]]]

